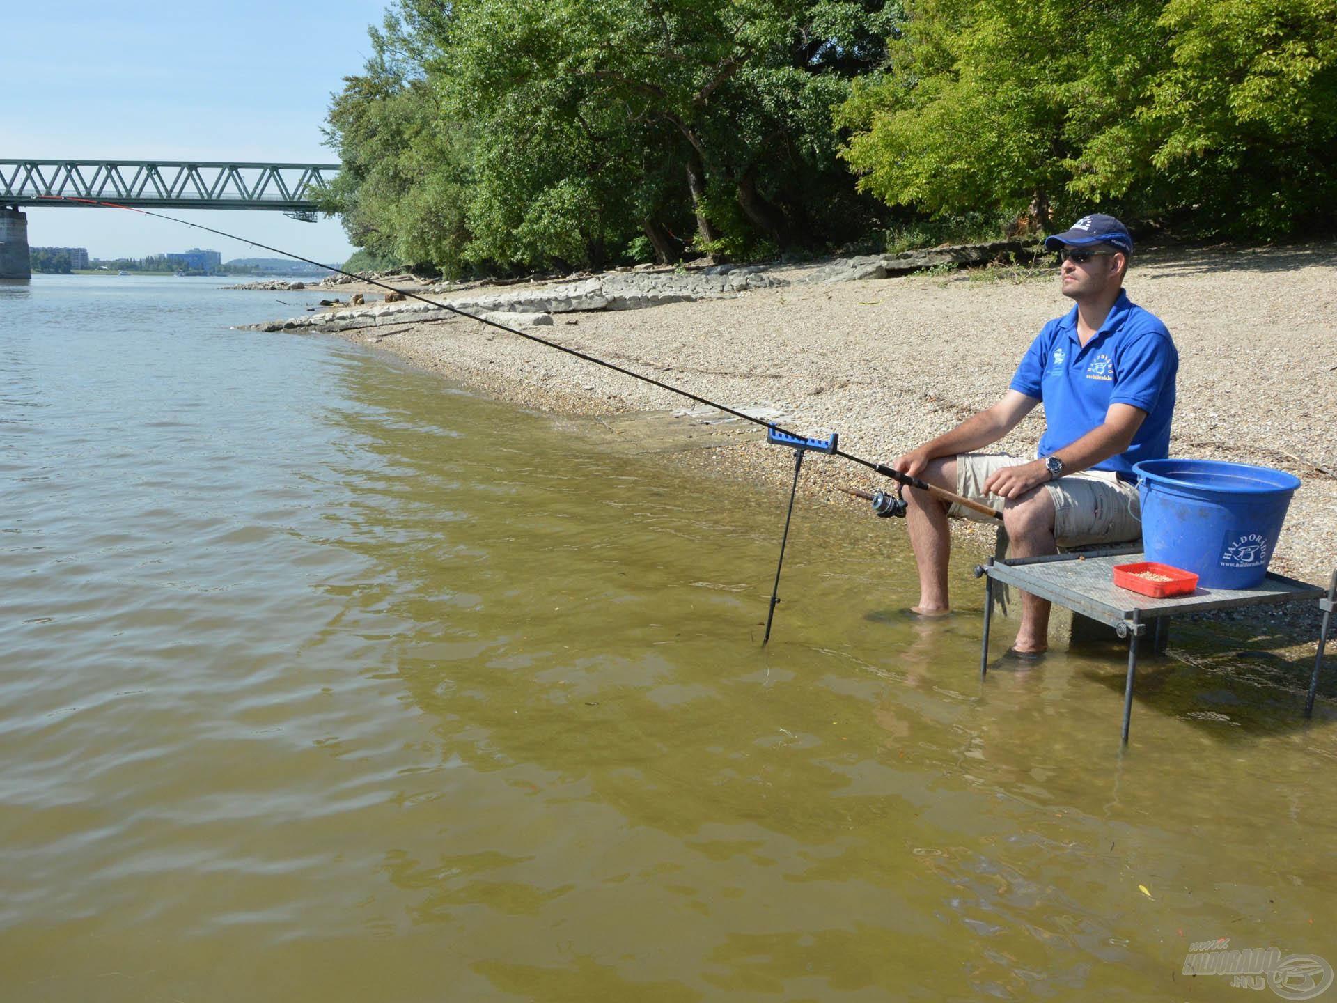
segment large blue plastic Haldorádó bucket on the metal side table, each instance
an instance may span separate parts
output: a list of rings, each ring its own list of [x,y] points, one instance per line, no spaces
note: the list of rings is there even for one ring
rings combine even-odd
[[[1147,560],[1193,571],[1202,588],[1262,582],[1300,477],[1219,460],[1143,460],[1132,469]]]

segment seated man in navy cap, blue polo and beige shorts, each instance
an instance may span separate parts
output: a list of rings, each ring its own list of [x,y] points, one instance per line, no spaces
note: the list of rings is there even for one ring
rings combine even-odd
[[[1170,451],[1179,354],[1155,316],[1128,301],[1123,277],[1132,254],[1127,227],[1088,215],[1046,239],[1059,253],[1063,296],[1076,305],[1040,330],[1012,384],[991,408],[898,457],[902,473],[987,504],[1001,500],[1012,556],[1058,546],[1118,543],[1142,534],[1132,464]],[[1044,403],[1036,459],[976,455]],[[993,496],[993,497],[989,497]],[[948,611],[949,515],[928,492],[906,492],[906,524],[919,564],[921,617]],[[1021,595],[1021,626],[1009,655],[1038,659],[1048,647],[1050,603]]]

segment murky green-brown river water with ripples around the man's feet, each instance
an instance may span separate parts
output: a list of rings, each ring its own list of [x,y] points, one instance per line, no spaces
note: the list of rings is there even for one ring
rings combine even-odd
[[[317,294],[215,285],[0,288],[0,999],[1234,999],[1195,941],[1337,962],[1305,666],[1189,627],[1120,754],[1118,647],[981,683],[969,558],[963,614],[905,622],[901,527],[802,503],[762,649],[775,492],[234,330]]]

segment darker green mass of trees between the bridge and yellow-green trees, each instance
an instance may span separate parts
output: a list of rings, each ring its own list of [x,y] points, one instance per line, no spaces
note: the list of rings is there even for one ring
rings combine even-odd
[[[884,0],[400,0],[345,79],[329,209],[448,269],[753,254],[866,229],[832,107],[885,53]],[[449,225],[428,210],[449,202]]]

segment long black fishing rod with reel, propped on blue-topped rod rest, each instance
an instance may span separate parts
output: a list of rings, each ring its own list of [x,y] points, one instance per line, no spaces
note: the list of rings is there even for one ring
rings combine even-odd
[[[842,457],[845,460],[849,460],[850,463],[857,463],[861,467],[866,467],[868,469],[873,471],[874,473],[880,473],[884,477],[890,477],[892,480],[897,481],[897,484],[900,484],[901,488],[906,488],[906,487],[917,488],[917,489],[925,491],[929,495],[933,495],[935,497],[939,497],[941,500],[955,502],[955,503],[957,503],[960,506],[964,506],[967,508],[971,508],[971,510],[973,510],[973,511],[976,511],[976,512],[979,512],[981,515],[987,515],[987,516],[991,516],[991,518],[997,519],[997,520],[1003,519],[1003,514],[1001,512],[999,512],[997,510],[991,508],[991,507],[988,507],[985,504],[981,504],[980,502],[975,502],[973,499],[969,499],[969,497],[963,497],[961,495],[955,495],[951,491],[947,491],[945,488],[940,488],[936,484],[929,484],[928,481],[924,481],[924,480],[921,480],[919,477],[912,477],[910,475],[902,473],[901,471],[898,471],[898,469],[896,469],[893,467],[888,467],[884,463],[874,463],[873,460],[865,460],[862,456],[856,456],[853,453],[845,452],[844,449],[840,449],[838,448],[838,436],[834,432],[828,439],[809,439],[809,437],[805,437],[805,436],[800,436],[800,435],[797,435],[794,432],[790,432],[789,429],[781,428],[779,425],[777,425],[774,423],[763,421],[759,417],[755,417],[753,415],[747,415],[747,413],[745,413],[742,411],[737,411],[737,409],[730,408],[730,407],[727,407],[725,404],[718,404],[718,403],[715,403],[715,401],[713,401],[713,400],[710,400],[707,397],[702,397],[701,395],[693,393],[691,391],[685,391],[681,386],[674,386],[673,384],[663,382],[662,380],[655,380],[652,376],[646,376],[644,373],[638,373],[638,372],[635,372],[632,369],[627,369],[627,368],[620,366],[620,365],[618,365],[615,362],[610,362],[610,361],[607,361],[604,358],[599,358],[599,357],[591,356],[591,354],[588,354],[586,352],[580,352],[579,349],[570,348],[568,345],[563,345],[560,342],[550,341],[548,338],[539,337],[537,334],[528,334],[528,333],[525,333],[523,330],[517,330],[516,328],[512,328],[509,325],[501,324],[500,321],[495,321],[495,320],[492,320],[489,317],[481,317],[481,316],[469,313],[468,310],[461,310],[460,308],[452,306],[451,304],[444,304],[444,302],[441,302],[439,300],[431,300],[431,298],[428,298],[425,296],[409,292],[406,289],[398,289],[398,288],[392,286],[392,285],[389,285],[386,282],[381,282],[380,280],[376,280],[376,278],[368,278],[368,277],[360,275],[360,274],[357,274],[354,271],[345,271],[341,267],[334,267],[332,265],[326,265],[326,263],[320,262],[320,261],[313,261],[312,258],[303,258],[301,254],[294,254],[293,251],[283,250],[282,247],[271,247],[267,243],[261,243],[258,241],[251,241],[251,239],[247,239],[245,237],[238,237],[237,234],[231,234],[231,233],[227,233],[225,230],[215,230],[214,227],[205,226],[203,223],[193,223],[189,219],[180,219],[178,217],[167,215],[164,213],[154,213],[151,210],[139,209],[136,206],[120,205],[119,202],[103,202],[103,201],[99,201],[99,199],[75,198],[72,195],[40,195],[39,198],[49,199],[49,201],[53,201],[53,202],[78,202],[80,205],[95,206],[98,209],[123,209],[127,213],[139,213],[140,215],[148,215],[148,217],[154,217],[156,219],[166,219],[170,223],[179,223],[182,226],[190,226],[190,227],[193,227],[195,230],[205,230],[206,233],[217,234],[218,237],[226,237],[230,241],[238,241],[238,242],[246,243],[246,245],[249,245],[251,247],[259,247],[262,250],[273,251],[274,254],[281,254],[282,257],[291,258],[293,261],[302,261],[302,262],[305,262],[308,265],[314,265],[316,267],[328,269],[329,271],[334,271],[334,273],[337,273],[340,275],[348,275],[349,278],[356,280],[358,282],[366,282],[368,285],[378,286],[380,289],[385,289],[385,290],[389,290],[392,293],[398,293],[400,296],[402,296],[402,297],[405,297],[408,300],[417,300],[420,302],[428,304],[429,306],[435,306],[435,308],[437,308],[440,310],[448,310],[449,313],[453,313],[453,314],[456,314],[459,317],[463,317],[465,320],[477,321],[479,324],[485,324],[489,328],[496,328],[497,330],[504,330],[508,334],[515,334],[516,337],[521,337],[521,338],[524,338],[527,341],[532,341],[532,342],[539,344],[539,345],[544,345],[545,348],[556,349],[558,352],[564,352],[568,356],[575,356],[576,358],[583,358],[584,361],[594,362],[595,365],[602,365],[606,369],[612,369],[614,372],[622,373],[623,376],[630,376],[631,378],[640,380],[642,382],[647,382],[651,386],[658,386],[662,391],[668,391],[670,393],[675,393],[679,397],[686,397],[687,400],[697,401],[698,404],[705,404],[707,408],[714,408],[717,411],[722,411],[723,413],[733,415],[734,417],[742,419],[743,421],[750,421],[754,425],[761,425],[762,428],[766,429],[766,441],[767,443],[770,443],[771,445],[789,447],[790,449],[794,451],[794,481],[793,481],[793,485],[789,489],[789,511],[785,515],[785,534],[781,538],[781,543],[779,543],[779,560],[775,564],[775,584],[771,588],[770,610],[769,610],[769,612],[766,615],[766,634],[762,638],[762,645],[765,645],[767,641],[770,641],[770,626],[771,626],[771,621],[773,621],[773,618],[775,615],[775,604],[779,603],[779,595],[778,595],[778,590],[779,590],[779,571],[781,571],[781,567],[785,563],[785,544],[789,542],[789,522],[790,522],[790,518],[794,514],[794,495],[798,491],[798,473],[800,473],[800,469],[802,468],[802,464],[804,464],[804,453],[805,452],[822,452],[822,453],[826,453],[828,456],[840,456],[840,457]],[[878,495],[884,495],[884,492],[877,492],[877,493]],[[904,511],[905,503],[900,497],[900,491],[897,491],[897,499],[898,499],[900,511],[888,511],[886,515],[905,515],[905,511]],[[878,514],[882,515],[882,512],[878,512]]]

